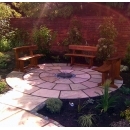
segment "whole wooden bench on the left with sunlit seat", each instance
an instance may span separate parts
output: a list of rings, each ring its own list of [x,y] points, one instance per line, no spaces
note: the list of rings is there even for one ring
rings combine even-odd
[[[30,67],[38,67],[38,59],[43,54],[34,54],[34,51],[37,50],[36,45],[30,46],[21,46],[13,48],[15,54],[15,70],[25,72],[25,69]],[[25,66],[25,62],[29,61],[30,63]]]

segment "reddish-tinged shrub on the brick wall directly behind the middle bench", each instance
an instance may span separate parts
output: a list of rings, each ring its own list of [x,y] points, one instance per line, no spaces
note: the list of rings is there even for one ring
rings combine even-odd
[[[68,46],[70,44],[82,44],[83,37],[81,34],[81,22],[77,19],[73,19],[70,23],[67,38],[63,40],[63,45]]]

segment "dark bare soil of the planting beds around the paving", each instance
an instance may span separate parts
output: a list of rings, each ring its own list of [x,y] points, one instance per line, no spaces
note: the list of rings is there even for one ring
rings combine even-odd
[[[0,75],[2,80],[5,80],[7,74],[9,74],[11,71],[13,71],[15,66],[15,60],[13,53],[9,52],[11,55],[11,59],[8,65],[7,69],[0,69]],[[56,55],[53,55],[56,57]],[[61,57],[56,60],[54,58],[50,59],[40,59],[39,63],[69,63],[69,59],[66,60],[64,57]],[[84,62],[80,59],[80,62]],[[94,65],[99,66],[101,63],[94,62]],[[130,88],[130,71],[127,72],[121,72],[120,75],[123,78],[123,86],[126,88]],[[11,88],[8,86],[6,91],[10,90]],[[93,104],[88,103],[86,107],[84,107],[80,112],[78,112],[78,105],[80,101],[80,106],[83,105],[85,101],[88,99],[62,99],[63,107],[60,111],[60,113],[52,114],[47,109],[46,106],[43,107],[41,110],[38,111],[38,113],[47,116],[57,122],[59,122],[61,125],[65,127],[79,127],[78,124],[78,118],[81,115],[87,115],[87,114],[94,114],[93,115],[93,126],[95,127],[108,127],[112,126],[130,126],[130,124],[126,120],[122,120],[120,116],[120,112],[127,109],[127,106],[125,105],[124,101],[126,99],[130,100],[130,93],[125,94],[121,91],[121,89],[116,90],[115,92],[111,93],[111,95],[117,95],[119,96],[118,101],[114,104],[115,106],[108,109],[106,113],[101,112],[101,109],[95,108],[98,104],[98,101],[101,99],[101,97],[95,97],[92,98],[94,100]],[[74,106],[70,106],[69,102],[73,102]]]

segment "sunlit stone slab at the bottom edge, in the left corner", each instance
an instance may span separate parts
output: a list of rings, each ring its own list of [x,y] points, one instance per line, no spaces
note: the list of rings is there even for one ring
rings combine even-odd
[[[22,110],[1,121],[0,127],[42,127],[47,123],[49,121]]]

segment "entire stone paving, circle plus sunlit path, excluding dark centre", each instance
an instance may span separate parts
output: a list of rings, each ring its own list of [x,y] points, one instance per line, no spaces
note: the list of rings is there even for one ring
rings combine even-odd
[[[27,73],[12,71],[7,75],[6,82],[13,89],[0,97],[0,126],[60,126],[36,112],[47,98],[92,98],[98,96],[96,92],[102,95],[102,86],[98,87],[101,73],[97,71],[64,63],[40,64],[39,67]],[[72,73],[74,77],[58,78],[60,72]],[[115,80],[114,84],[120,88],[123,81]],[[110,88],[110,92],[115,90]],[[9,123],[11,121],[13,123]]]

